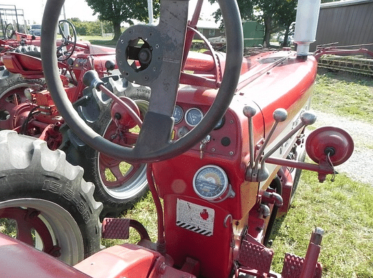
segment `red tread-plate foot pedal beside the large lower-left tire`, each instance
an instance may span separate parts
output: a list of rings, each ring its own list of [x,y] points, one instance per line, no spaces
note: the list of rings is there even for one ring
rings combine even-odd
[[[128,218],[104,218],[102,223],[102,237],[127,240],[129,237]]]

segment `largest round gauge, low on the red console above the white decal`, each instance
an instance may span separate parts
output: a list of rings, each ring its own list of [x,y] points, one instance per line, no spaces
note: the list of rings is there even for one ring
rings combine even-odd
[[[219,166],[203,166],[194,175],[193,188],[196,194],[205,200],[221,199],[229,190],[227,174]]]

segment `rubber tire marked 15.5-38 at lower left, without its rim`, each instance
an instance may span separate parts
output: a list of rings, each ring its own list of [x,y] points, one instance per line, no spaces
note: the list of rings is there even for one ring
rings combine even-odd
[[[102,205],[94,201],[92,197],[93,184],[83,180],[83,170],[79,166],[68,164],[62,151],[51,151],[47,143],[29,136],[21,136],[15,131],[0,131],[0,139],[3,134],[13,133],[9,136],[8,142],[1,141],[0,149],[16,149],[8,154],[2,153],[0,157],[0,204],[14,199],[42,199],[51,201],[63,207],[79,227],[81,238],[83,239],[83,258],[101,250],[101,224],[99,214]],[[55,164],[57,170],[46,170],[42,163],[38,163],[38,153],[35,149],[27,151],[34,142],[40,141],[41,159]],[[25,167],[16,168],[12,166],[12,158],[9,155],[20,153],[20,157],[29,158],[30,163]],[[53,154],[58,152],[58,155]],[[32,163],[31,163],[32,162]],[[27,164],[27,163],[26,163]],[[17,166],[19,167],[19,166]],[[76,169],[78,167],[79,169]],[[60,169],[58,169],[60,168]],[[74,169],[75,168],[75,169]],[[74,179],[70,179],[61,173],[77,172]],[[79,173],[80,172],[80,173]],[[62,247],[63,248],[63,247]],[[81,258],[81,259],[83,259]]]

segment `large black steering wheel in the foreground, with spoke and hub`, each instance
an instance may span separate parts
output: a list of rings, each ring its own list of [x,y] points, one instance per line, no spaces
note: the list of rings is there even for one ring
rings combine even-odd
[[[179,77],[183,60],[188,1],[161,0],[159,25],[129,27],[116,46],[116,62],[129,81],[151,87],[149,110],[135,147],[105,140],[90,129],[71,105],[62,87],[53,49],[55,26],[64,1],[48,0],[42,18],[42,66],[51,96],[71,129],[93,149],[130,163],[157,162],[180,155],[201,142],[229,108],[240,77],[243,35],[235,0],[219,0],[227,33],[227,64],[214,103],[203,120],[182,138],[171,141]],[[139,38],[142,47],[136,47]],[[140,67],[129,65],[137,55]],[[97,83],[96,83],[97,84]]]

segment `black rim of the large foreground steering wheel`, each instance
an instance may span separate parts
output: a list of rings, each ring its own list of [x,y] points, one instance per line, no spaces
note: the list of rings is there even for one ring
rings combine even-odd
[[[44,75],[51,96],[53,97],[58,110],[75,134],[90,145],[90,147],[97,149],[97,151],[112,157],[118,157],[131,163],[157,162],[175,157],[176,155],[188,151],[188,149],[194,147],[195,144],[205,138],[205,136],[214,129],[216,123],[229,108],[229,103],[231,103],[231,99],[233,98],[240,77],[243,55],[242,23],[237,3],[235,0],[219,0],[218,2],[220,10],[222,11],[227,33],[227,64],[225,65],[222,83],[213,105],[211,105],[211,108],[203,118],[203,121],[194,127],[194,129],[189,131],[183,138],[179,138],[175,142],[167,142],[166,146],[160,149],[152,149],[151,144],[149,144],[139,151],[140,148],[135,147],[134,149],[126,149],[103,139],[99,134],[90,129],[90,127],[81,120],[77,112],[74,110],[60,81],[60,74],[57,68],[57,58],[55,53],[51,51],[51,47],[55,44],[54,30],[57,25],[57,18],[64,1],[48,0],[45,5],[44,16],[42,19],[41,54]],[[148,116],[148,114],[151,113],[148,112],[146,116]],[[156,114],[155,116],[155,118],[157,118],[159,115]],[[151,118],[151,116],[148,118]],[[166,119],[166,121],[173,120],[172,118],[169,118]],[[145,118],[142,130],[149,129],[149,127],[151,129],[152,124],[146,123]],[[140,146],[142,145],[140,140],[142,130],[140,131],[138,140]],[[156,139],[144,138],[144,136],[142,136],[142,140],[154,141]]]

